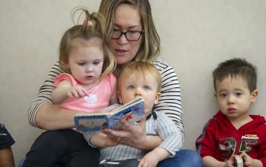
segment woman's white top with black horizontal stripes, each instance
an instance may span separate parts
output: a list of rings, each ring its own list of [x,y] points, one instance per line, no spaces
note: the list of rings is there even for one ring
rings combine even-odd
[[[178,130],[182,133],[184,140],[184,127],[182,122],[182,106],[181,106],[181,89],[178,77],[174,69],[162,59],[156,58],[153,60],[153,65],[159,70],[162,75],[161,97],[157,105],[154,105],[153,110],[165,113],[176,124]],[[54,78],[61,73],[65,73],[59,67],[59,62],[52,67],[48,74],[45,83],[40,87],[37,96],[33,99],[28,112],[29,123],[31,126],[38,127],[35,122],[36,114],[43,103],[53,103],[51,95],[54,86]]]

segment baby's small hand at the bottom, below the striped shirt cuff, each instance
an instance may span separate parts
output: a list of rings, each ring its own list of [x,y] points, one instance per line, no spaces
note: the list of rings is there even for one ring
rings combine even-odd
[[[157,155],[153,151],[146,154],[142,159],[138,159],[138,161],[140,161],[138,167],[155,167],[159,163]]]

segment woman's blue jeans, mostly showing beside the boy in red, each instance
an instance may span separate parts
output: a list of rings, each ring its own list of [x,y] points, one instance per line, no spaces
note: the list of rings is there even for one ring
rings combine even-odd
[[[24,160],[25,158],[20,161],[18,167],[22,166]],[[159,162],[157,165],[157,167],[171,167],[171,166],[202,167],[203,161],[201,156],[198,155],[196,152],[192,150],[182,149],[179,152],[177,152],[174,157],[167,158]]]

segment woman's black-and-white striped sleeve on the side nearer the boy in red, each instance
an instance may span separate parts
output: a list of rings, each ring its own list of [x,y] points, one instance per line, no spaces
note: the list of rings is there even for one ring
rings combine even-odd
[[[161,98],[153,110],[164,112],[173,120],[178,130],[182,133],[184,140],[184,126],[182,121],[181,89],[178,77],[174,69],[162,59],[154,59],[153,65],[159,70],[162,76]]]

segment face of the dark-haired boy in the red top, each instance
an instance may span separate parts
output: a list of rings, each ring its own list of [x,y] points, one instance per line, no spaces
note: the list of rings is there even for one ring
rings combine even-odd
[[[251,102],[255,102],[258,91],[249,91],[248,83],[241,76],[227,77],[221,82],[216,81],[215,97],[220,111],[229,120],[241,120],[248,117]]]

